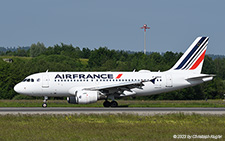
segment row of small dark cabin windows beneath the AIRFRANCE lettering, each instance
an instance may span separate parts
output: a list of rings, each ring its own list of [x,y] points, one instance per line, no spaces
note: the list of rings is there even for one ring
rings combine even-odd
[[[96,79],[96,81],[149,81],[149,79]],[[58,82],[88,82],[88,79],[83,79],[83,80],[79,80],[79,79],[74,79],[74,80],[70,80],[70,79],[64,79],[64,80],[60,80],[58,79]],[[93,79],[91,79],[90,81],[93,81]],[[162,79],[156,79],[156,81],[162,81]],[[57,80],[55,79],[55,82],[57,82]]]

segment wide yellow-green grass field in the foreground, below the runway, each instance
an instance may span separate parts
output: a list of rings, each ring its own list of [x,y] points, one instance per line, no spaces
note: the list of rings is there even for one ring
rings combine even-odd
[[[225,115],[0,115],[0,140],[172,140],[225,135]]]

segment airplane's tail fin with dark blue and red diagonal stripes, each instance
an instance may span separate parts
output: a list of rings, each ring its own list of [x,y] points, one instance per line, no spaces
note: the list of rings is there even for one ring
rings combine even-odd
[[[187,51],[170,70],[201,73],[209,37],[197,37]]]

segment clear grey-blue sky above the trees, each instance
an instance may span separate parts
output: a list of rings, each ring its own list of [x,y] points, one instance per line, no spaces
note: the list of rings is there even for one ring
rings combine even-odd
[[[74,47],[184,52],[209,36],[207,54],[225,55],[224,0],[2,0],[0,47]]]

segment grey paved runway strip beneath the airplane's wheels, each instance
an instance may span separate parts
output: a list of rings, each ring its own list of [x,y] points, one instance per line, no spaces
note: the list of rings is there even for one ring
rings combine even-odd
[[[225,108],[77,108],[77,107],[7,107],[0,108],[0,115],[6,114],[138,114],[155,115],[170,113],[225,114]]]

